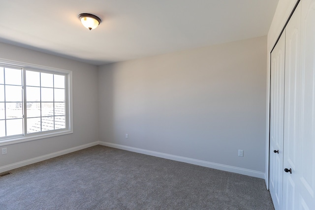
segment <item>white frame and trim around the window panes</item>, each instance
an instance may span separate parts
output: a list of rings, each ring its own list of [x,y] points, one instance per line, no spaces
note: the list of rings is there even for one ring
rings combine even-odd
[[[1,137],[0,138],[0,146],[17,144],[21,142],[28,142],[38,139],[50,138],[55,136],[61,136],[66,134],[73,133],[73,107],[72,107],[72,71],[47,67],[42,65],[36,65],[26,62],[19,62],[15,60],[6,60],[0,59],[0,66],[5,67],[12,67],[12,68],[23,68],[23,71],[30,70],[30,71],[38,71],[43,73],[56,73],[56,74],[63,74],[65,75],[65,128],[64,129],[57,129],[57,130],[50,130],[50,131],[42,131],[36,133],[26,133],[24,131],[23,136],[8,136],[8,137]],[[23,77],[24,78],[24,77]],[[23,84],[25,87],[25,84]],[[25,108],[25,107],[24,107]],[[25,120],[25,118],[24,118]],[[25,130],[24,125],[24,130]]]

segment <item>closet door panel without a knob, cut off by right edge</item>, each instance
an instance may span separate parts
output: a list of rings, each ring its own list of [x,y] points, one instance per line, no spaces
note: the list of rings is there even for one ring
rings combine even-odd
[[[315,0],[301,1],[301,132],[295,209],[315,209]],[[292,172],[293,174],[293,172]]]

